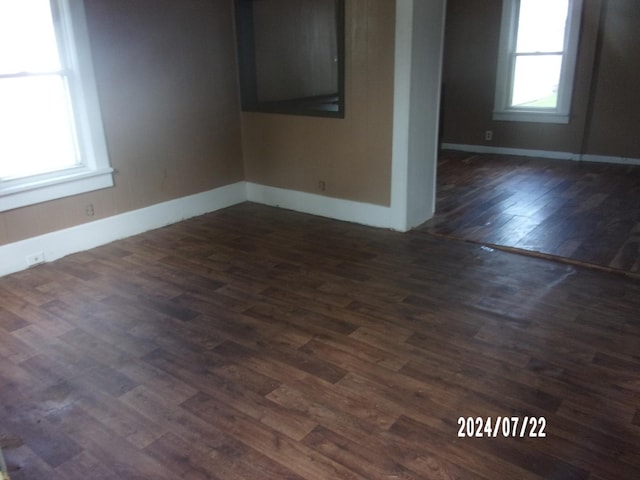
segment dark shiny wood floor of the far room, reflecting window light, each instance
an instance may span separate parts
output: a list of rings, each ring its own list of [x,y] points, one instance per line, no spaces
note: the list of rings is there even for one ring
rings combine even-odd
[[[445,151],[433,234],[640,273],[640,166]]]

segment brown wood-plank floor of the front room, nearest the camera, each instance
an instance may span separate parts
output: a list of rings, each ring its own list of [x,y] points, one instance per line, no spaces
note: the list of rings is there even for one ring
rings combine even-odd
[[[245,203],[1,278],[0,305],[12,480],[640,478],[622,275]]]

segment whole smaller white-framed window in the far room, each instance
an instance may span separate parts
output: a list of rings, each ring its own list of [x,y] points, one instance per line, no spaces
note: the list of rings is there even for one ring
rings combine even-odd
[[[494,120],[568,123],[582,0],[503,0]]]

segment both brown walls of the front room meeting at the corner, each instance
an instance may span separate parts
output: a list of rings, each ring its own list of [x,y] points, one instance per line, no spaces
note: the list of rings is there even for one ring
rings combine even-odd
[[[389,205],[394,1],[346,2],[345,119],[240,114],[231,0],[85,4],[116,186],[0,213],[0,245],[243,179]]]

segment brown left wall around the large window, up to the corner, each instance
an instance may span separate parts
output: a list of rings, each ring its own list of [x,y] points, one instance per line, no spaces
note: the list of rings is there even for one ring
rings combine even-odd
[[[243,179],[231,1],[85,4],[116,186],[0,213],[0,244]]]

